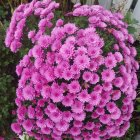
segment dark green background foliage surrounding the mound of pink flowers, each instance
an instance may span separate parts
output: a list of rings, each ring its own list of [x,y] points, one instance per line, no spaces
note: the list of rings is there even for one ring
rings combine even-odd
[[[14,109],[16,108],[14,99],[16,96],[15,90],[18,77],[15,74],[15,68],[22,56],[28,51],[28,48],[22,49],[17,54],[13,54],[5,47],[4,38],[14,9],[21,3],[30,1],[31,0],[0,0],[0,136],[3,136],[6,140],[17,138],[10,129],[10,124],[14,120],[14,115],[12,114],[14,114]],[[73,4],[70,0],[56,1],[60,3],[60,9],[57,11],[56,16],[64,18],[65,13],[71,11]],[[81,0],[81,3],[85,4],[86,0]],[[98,0],[95,1],[95,4],[98,4]],[[65,17],[65,19],[67,21],[70,20],[68,17]],[[76,24],[80,23],[83,27],[86,24],[84,19],[74,19],[74,21]],[[132,25],[137,24],[137,21],[132,19],[131,12],[128,12],[125,16],[125,21],[129,24],[129,32],[134,34],[136,29]],[[30,24],[33,25],[31,22],[33,22],[33,20],[30,21]],[[25,40],[25,42],[26,46],[30,46],[29,41]],[[140,40],[136,40],[134,46],[138,51],[137,60],[140,62]],[[140,72],[138,72],[138,75],[140,75]],[[140,90],[138,89],[135,111],[131,119],[131,127],[123,138],[113,140],[133,140],[136,133],[140,132],[139,116]]]

